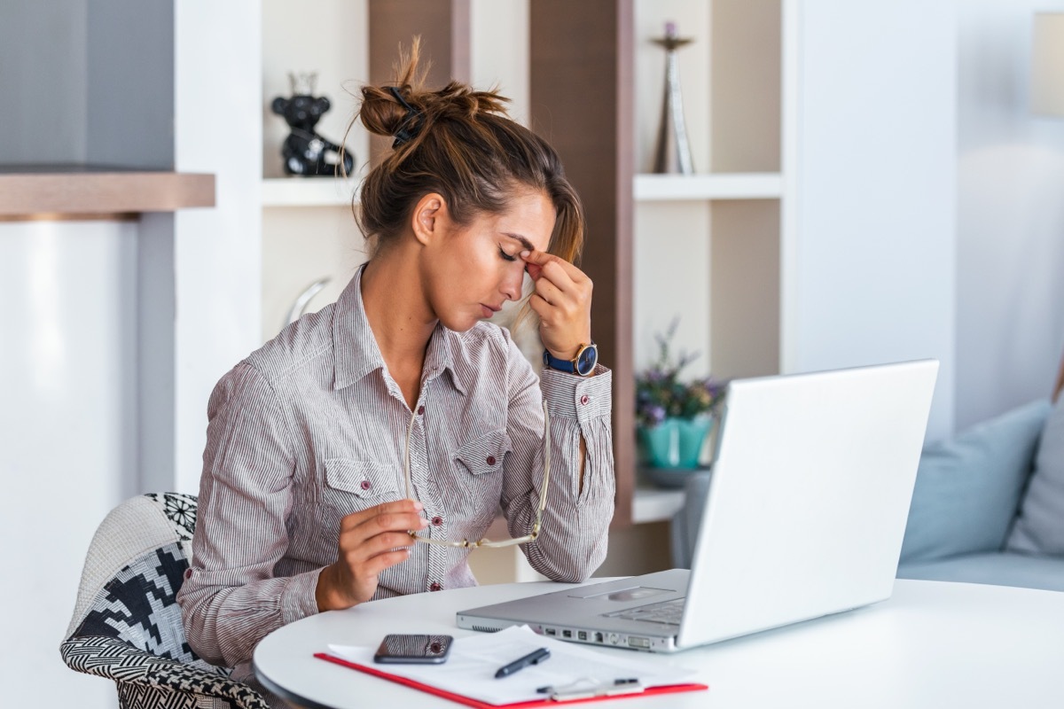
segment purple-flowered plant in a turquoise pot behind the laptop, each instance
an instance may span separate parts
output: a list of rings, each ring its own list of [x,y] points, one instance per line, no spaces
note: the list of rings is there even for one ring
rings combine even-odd
[[[724,387],[712,376],[687,382],[681,371],[698,354],[680,353],[674,360],[669,349],[679,320],[664,335],[655,335],[658,359],[635,376],[635,418],[639,440],[653,468],[698,468],[705,437],[713,428],[713,413]]]

